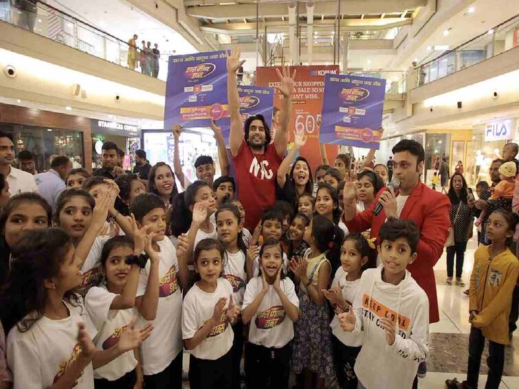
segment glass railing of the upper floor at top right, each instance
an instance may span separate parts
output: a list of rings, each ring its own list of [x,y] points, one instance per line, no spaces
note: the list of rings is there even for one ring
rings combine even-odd
[[[519,14],[516,14],[463,45],[445,51],[437,58],[415,68],[412,80],[414,85],[410,89],[421,87],[513,49],[519,45],[518,36]],[[434,47],[430,48],[434,49]]]

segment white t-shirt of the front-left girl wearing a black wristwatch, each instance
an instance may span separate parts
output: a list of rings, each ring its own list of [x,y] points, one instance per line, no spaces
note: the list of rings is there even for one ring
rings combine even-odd
[[[122,332],[131,322],[133,315],[136,315],[133,308],[110,309],[116,296],[118,294],[111,293],[102,286],[91,287],[85,297],[85,307],[98,331],[98,335],[94,339],[98,350],[107,350],[115,346],[119,342]],[[93,377],[114,381],[131,372],[135,366],[137,366],[137,359],[135,359],[133,350],[126,351],[109,364],[97,368],[93,372]]]

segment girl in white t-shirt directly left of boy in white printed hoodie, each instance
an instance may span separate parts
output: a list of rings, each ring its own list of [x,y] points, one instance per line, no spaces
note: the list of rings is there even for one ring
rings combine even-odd
[[[341,267],[335,271],[331,289],[324,292],[335,315],[330,327],[333,333],[333,365],[340,388],[357,389],[357,376],[353,370],[360,353],[362,335],[353,335],[342,329],[338,315],[348,311],[360,287],[360,276],[365,269],[375,267],[377,252],[375,244],[362,234],[349,234],[341,245]]]

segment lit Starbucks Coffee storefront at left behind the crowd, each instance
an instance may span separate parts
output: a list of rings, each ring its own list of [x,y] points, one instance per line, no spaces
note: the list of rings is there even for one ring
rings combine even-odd
[[[135,151],[140,148],[140,128],[133,124],[91,119],[92,168],[101,167],[102,144],[113,142],[124,151],[122,168],[131,170],[135,164]]]

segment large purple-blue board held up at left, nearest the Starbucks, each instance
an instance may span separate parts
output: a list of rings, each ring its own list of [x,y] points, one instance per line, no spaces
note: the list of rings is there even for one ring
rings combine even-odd
[[[226,58],[224,50],[169,57],[164,131],[173,124],[208,127],[211,119],[229,117]]]

